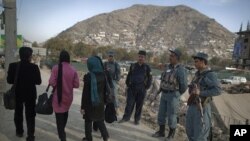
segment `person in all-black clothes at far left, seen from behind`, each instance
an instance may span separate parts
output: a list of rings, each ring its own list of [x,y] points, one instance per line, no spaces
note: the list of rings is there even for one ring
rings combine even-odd
[[[32,52],[32,49],[29,47],[21,47],[19,49],[21,61],[9,64],[7,74],[7,82],[9,84],[14,84],[17,77],[14,123],[16,127],[16,136],[23,137],[23,109],[25,107],[28,135],[26,141],[35,140],[35,105],[37,98],[36,85],[40,85],[42,81],[38,66],[31,63]]]

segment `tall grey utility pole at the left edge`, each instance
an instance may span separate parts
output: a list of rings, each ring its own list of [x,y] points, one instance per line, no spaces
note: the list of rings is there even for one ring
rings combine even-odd
[[[5,13],[5,91],[10,88],[6,82],[9,64],[17,61],[16,0],[3,0]]]

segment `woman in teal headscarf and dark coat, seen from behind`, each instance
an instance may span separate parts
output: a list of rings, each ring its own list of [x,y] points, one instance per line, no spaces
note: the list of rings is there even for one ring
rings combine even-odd
[[[109,134],[104,123],[104,105],[106,92],[106,76],[102,61],[97,56],[87,60],[89,72],[84,75],[81,113],[85,119],[85,136],[83,141],[92,141],[92,123],[95,122],[104,141]]]

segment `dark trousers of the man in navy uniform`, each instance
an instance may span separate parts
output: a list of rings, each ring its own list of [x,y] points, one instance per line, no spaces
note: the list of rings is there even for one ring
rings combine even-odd
[[[130,120],[133,109],[135,107],[135,121],[141,119],[141,111],[144,103],[144,98],[146,95],[145,88],[128,88],[127,90],[127,104],[125,108],[125,113],[123,115],[124,120]]]

